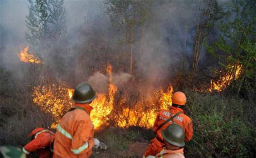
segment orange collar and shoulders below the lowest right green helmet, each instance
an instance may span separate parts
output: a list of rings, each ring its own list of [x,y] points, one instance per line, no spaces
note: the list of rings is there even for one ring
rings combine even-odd
[[[184,148],[178,150],[162,150],[160,153],[156,154],[158,158],[185,158]]]

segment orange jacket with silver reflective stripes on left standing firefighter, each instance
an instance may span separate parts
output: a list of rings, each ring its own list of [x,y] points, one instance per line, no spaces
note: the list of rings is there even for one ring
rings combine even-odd
[[[67,112],[57,125],[54,141],[54,158],[88,158],[94,146],[94,126],[90,120],[92,107],[75,103],[74,109]]]

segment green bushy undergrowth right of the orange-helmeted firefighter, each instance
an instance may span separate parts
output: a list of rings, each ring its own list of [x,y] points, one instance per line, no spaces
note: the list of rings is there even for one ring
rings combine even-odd
[[[186,157],[255,156],[254,102],[218,94],[186,94],[194,126],[192,141],[185,147]]]

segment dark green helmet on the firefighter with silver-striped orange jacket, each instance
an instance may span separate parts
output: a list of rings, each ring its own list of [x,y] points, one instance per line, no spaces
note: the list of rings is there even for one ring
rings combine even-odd
[[[88,83],[81,83],[75,88],[72,100],[77,103],[89,103],[96,97],[96,92]]]

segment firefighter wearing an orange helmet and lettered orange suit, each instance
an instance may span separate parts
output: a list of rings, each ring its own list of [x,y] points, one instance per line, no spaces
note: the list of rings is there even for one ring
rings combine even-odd
[[[164,139],[161,131],[173,122],[179,124],[185,132],[185,141],[190,141],[193,136],[192,120],[184,114],[183,108],[187,98],[183,92],[175,92],[172,96],[172,106],[169,110],[160,110],[158,113],[153,132],[156,134],[146,149],[144,156],[156,155],[163,149]]]

